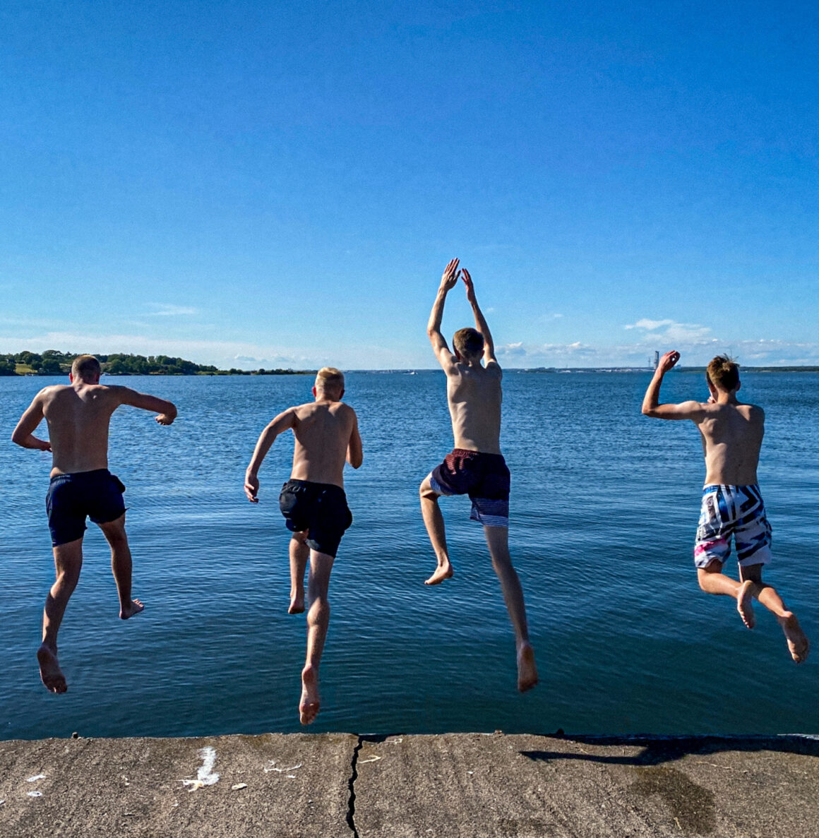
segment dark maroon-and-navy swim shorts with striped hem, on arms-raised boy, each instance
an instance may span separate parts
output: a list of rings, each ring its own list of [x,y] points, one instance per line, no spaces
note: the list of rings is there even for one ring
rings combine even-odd
[[[484,526],[509,526],[511,477],[502,454],[455,448],[429,474],[436,494],[468,494],[469,517]]]

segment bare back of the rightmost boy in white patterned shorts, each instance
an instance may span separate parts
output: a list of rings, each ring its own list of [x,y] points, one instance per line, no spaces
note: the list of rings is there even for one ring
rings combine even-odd
[[[739,402],[713,402],[701,407],[702,413],[694,422],[702,435],[705,484],[756,484],[765,411]]]

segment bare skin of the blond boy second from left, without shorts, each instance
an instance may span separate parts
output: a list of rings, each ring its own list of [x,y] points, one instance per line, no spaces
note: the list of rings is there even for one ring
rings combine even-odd
[[[276,437],[293,431],[292,480],[308,480],[344,488],[344,467],[350,463],[360,468],[364,459],[358,417],[341,401],[343,386],[316,380],[315,401],[289,407],[276,416],[262,431],[245,474],[245,494],[252,504],[259,502],[259,468]],[[302,696],[298,704],[303,725],[313,722],[319,713],[319,665],[329,626],[329,578],[333,556],[310,550],[308,531],[293,533],[290,540],[290,607],[288,613],[304,611],[304,572],[308,559],[307,657],[302,670]]]

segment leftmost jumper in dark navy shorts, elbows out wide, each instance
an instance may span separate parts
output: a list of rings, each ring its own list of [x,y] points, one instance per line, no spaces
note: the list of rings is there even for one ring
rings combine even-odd
[[[57,633],[71,594],[80,581],[86,515],[99,525],[111,546],[111,570],[117,582],[120,618],[143,610],[131,598],[131,551],[125,534],[125,486],[108,471],[108,425],[120,405],[155,411],[160,425],[170,425],[176,407],[156,396],[100,384],[100,362],[80,355],[71,365],[70,385],[45,387],[34,396],[12,434],[23,448],[53,453],[51,482],[45,505],[57,579],[45,600],[43,643],[37,652],[40,678],[51,692],[68,685],[57,660]],[[45,416],[49,441],[34,437]]]

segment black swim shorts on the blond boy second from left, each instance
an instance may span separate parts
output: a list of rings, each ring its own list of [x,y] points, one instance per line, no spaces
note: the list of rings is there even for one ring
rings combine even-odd
[[[308,547],[335,557],[341,536],[353,523],[344,489],[329,483],[288,480],[282,487],[278,505],[288,530],[309,530]]]

